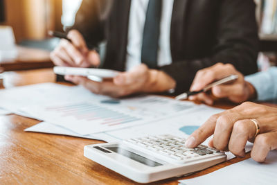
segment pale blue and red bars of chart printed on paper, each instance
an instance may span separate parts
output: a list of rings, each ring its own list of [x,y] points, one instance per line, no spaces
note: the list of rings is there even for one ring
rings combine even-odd
[[[78,121],[100,121],[101,125],[115,126],[126,124],[134,121],[139,121],[141,118],[136,118],[128,114],[116,112],[107,107],[100,107],[90,103],[78,103],[73,105],[64,105],[57,107],[47,107],[50,112],[58,112],[62,117],[73,117]]]

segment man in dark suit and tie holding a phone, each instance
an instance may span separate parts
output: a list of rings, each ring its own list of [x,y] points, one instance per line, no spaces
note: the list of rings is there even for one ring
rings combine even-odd
[[[100,67],[126,72],[102,82],[66,80],[114,97],[181,94],[199,69],[217,62],[244,75],[256,72],[257,30],[252,0],[83,0],[68,32],[72,43],[62,39],[51,59],[58,66],[98,67],[93,47],[105,41]]]

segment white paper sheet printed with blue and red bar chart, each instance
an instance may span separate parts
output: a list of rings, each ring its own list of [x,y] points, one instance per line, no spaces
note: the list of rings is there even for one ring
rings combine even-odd
[[[101,103],[76,102],[30,106],[24,111],[35,118],[60,125],[78,134],[87,135],[147,123],[150,118],[124,112]]]

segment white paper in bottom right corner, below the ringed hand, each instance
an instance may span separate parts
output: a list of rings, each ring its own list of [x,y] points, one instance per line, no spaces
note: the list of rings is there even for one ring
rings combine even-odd
[[[247,159],[237,164],[226,166],[208,175],[179,181],[179,184],[224,184],[224,185],[276,185],[277,150],[269,152],[264,164]]]

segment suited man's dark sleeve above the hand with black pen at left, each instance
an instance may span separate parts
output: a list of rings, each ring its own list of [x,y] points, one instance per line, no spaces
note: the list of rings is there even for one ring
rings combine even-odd
[[[98,46],[104,39],[104,21],[100,19],[103,3],[105,3],[104,0],[83,0],[75,16],[75,24],[69,28],[69,30],[78,30],[90,48]]]

